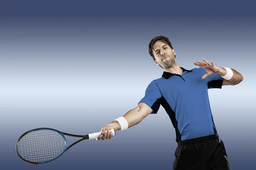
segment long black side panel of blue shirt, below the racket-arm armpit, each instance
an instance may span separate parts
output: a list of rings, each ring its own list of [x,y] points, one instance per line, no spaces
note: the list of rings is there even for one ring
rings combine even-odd
[[[172,110],[171,106],[169,105],[169,103],[166,101],[166,99],[163,96],[160,99],[161,99],[161,105],[166,110],[166,113],[169,115],[169,117],[172,121],[172,125],[175,128],[176,142],[178,142],[181,140],[181,136],[180,136],[180,131],[178,130],[178,122],[176,120],[175,112]]]

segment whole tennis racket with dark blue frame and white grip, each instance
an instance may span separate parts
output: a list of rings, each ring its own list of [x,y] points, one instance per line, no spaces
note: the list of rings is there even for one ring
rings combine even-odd
[[[110,130],[112,136],[115,130]],[[82,139],[67,147],[67,140],[64,135],[80,137]],[[86,140],[96,139],[102,136],[101,132],[88,135],[73,135],[51,128],[38,128],[29,130],[17,140],[16,152],[20,159],[30,164],[45,164],[58,159],[70,147]]]

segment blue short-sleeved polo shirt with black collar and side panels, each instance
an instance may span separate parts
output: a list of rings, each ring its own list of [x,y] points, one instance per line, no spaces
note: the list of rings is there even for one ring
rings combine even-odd
[[[205,79],[204,68],[183,70],[182,75],[163,72],[153,80],[140,102],[147,104],[154,114],[160,105],[169,115],[176,131],[176,142],[217,133],[209,104],[208,89],[221,88],[223,78],[212,74]]]

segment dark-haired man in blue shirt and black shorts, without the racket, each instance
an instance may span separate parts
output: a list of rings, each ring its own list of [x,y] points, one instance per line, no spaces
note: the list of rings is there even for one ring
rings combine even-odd
[[[194,62],[199,68],[182,68],[171,42],[164,36],[151,40],[149,54],[164,69],[162,77],[148,85],[136,108],[102,127],[102,136],[97,140],[111,139],[108,130],[137,125],[150,113],[157,113],[162,105],[176,130],[174,170],[230,170],[224,144],[213,122],[208,89],[237,85],[243,80],[242,75],[206,59]]]

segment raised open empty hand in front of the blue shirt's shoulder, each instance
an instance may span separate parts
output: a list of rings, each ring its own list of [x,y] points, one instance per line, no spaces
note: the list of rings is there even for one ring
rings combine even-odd
[[[201,61],[195,61],[194,64],[198,67],[204,68],[206,70],[206,74],[202,77],[202,79],[205,79],[207,76],[210,76],[214,73],[218,73],[220,71],[220,67],[213,64],[212,61],[209,63],[206,59],[203,59],[204,62]]]

